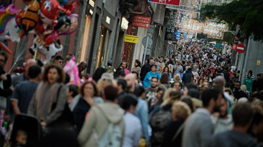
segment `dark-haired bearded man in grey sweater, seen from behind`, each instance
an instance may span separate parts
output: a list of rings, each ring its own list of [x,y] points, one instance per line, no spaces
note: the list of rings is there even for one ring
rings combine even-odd
[[[222,93],[215,89],[206,89],[201,99],[204,108],[197,108],[186,121],[182,138],[183,147],[206,147],[212,136],[210,115],[219,111]]]

